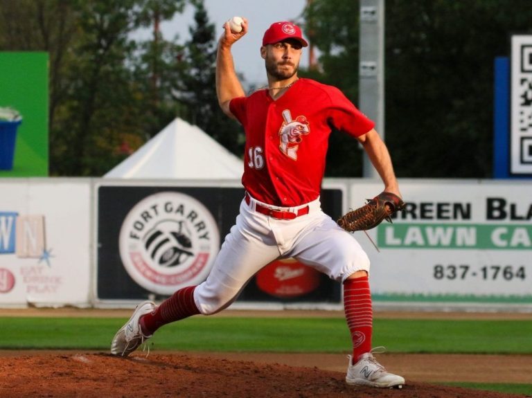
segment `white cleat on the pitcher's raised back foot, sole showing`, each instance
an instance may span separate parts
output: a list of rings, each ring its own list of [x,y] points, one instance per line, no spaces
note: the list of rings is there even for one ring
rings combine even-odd
[[[111,343],[111,354],[128,356],[151,337],[142,333],[139,320],[141,316],[150,314],[154,309],[155,304],[151,301],[143,301],[136,306],[130,320],[114,335]]]

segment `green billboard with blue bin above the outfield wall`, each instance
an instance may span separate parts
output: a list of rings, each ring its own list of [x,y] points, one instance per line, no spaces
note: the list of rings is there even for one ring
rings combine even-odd
[[[48,53],[0,52],[0,177],[48,176]]]

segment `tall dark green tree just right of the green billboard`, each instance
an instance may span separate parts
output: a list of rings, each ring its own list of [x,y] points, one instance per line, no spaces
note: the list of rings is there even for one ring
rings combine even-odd
[[[128,34],[135,27],[134,0],[82,3],[80,36],[69,69],[69,98],[65,117],[53,130],[61,174],[99,175],[107,169],[118,146],[118,132],[132,122],[130,71],[125,60],[134,50]],[[129,122],[129,123],[128,123]],[[134,124],[131,125],[134,128]],[[60,165],[60,162],[54,163]]]

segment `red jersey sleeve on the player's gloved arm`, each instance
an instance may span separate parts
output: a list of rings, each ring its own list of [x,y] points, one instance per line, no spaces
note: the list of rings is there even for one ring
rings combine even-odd
[[[348,100],[344,93],[335,87],[329,91],[331,105],[329,109],[330,116],[328,122],[336,129],[346,132],[351,136],[362,136],[369,132],[375,123],[364,115],[353,102]]]

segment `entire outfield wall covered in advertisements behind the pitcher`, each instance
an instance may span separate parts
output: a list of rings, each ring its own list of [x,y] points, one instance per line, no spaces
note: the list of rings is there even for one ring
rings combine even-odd
[[[532,312],[531,183],[400,186],[408,205],[393,224],[355,233],[371,258],[375,308]],[[382,186],[326,179],[323,188],[323,209],[337,218]],[[242,195],[239,181],[0,179],[0,307],[161,300],[208,273]],[[164,234],[179,239],[161,240],[157,253],[140,243]],[[286,260],[257,275],[233,307],[340,309],[341,290]]]

